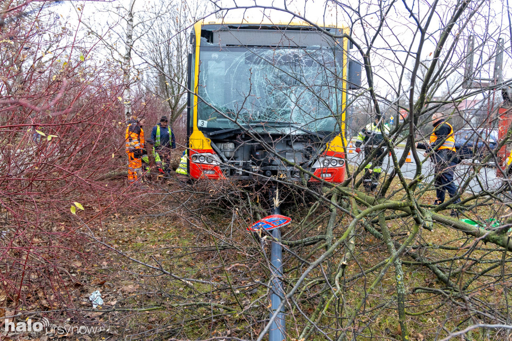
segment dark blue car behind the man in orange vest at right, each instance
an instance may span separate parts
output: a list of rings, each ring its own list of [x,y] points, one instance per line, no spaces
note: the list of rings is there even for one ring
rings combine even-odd
[[[454,134],[455,149],[461,159],[482,160],[498,144],[498,131],[484,129],[475,132],[473,129],[461,129]],[[486,143],[488,146],[486,145]]]

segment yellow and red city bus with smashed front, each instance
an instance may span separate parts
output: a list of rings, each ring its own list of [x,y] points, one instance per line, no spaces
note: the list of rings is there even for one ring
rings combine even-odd
[[[303,22],[205,19],[190,44],[191,178],[344,181],[347,90],[361,72],[347,39]]]

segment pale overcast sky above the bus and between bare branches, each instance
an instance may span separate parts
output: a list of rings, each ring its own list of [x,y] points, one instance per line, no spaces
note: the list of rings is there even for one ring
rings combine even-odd
[[[189,1],[190,7],[195,6],[196,2],[202,4],[204,8],[208,8],[209,11],[215,8],[209,1],[206,0],[195,0],[194,4]],[[236,1],[238,6],[253,6],[254,3],[261,6],[274,6],[278,8],[284,8],[284,3],[282,1]],[[366,38],[371,37],[373,30],[372,27],[376,27],[378,25],[378,15],[375,13],[378,11],[378,7],[375,5],[376,3],[377,1],[370,0],[365,4],[362,4],[360,7],[360,13],[364,16],[362,25],[365,25],[365,28],[367,29]],[[389,3],[390,1],[383,2],[385,5]],[[415,12],[420,18],[425,16],[430,6],[430,1],[418,2],[417,0],[407,0],[406,3],[408,6],[413,8],[413,12]],[[421,60],[429,60],[429,57],[434,52],[435,44],[439,37],[439,31],[437,29],[444,25],[449,16],[452,14],[453,3],[454,2],[452,0],[439,2],[437,7],[438,10],[436,13],[437,15],[433,17],[431,28],[429,29],[429,33],[431,35],[426,38],[423,50],[420,54]],[[484,53],[482,54],[481,58],[483,58],[483,60],[488,59],[489,55],[491,55],[494,51],[498,36],[504,36],[506,38],[504,54],[504,76],[505,78],[508,78],[511,76],[511,73],[508,71],[511,65],[511,48],[510,39],[508,39],[506,0],[490,0],[487,3],[489,6],[485,6],[484,11],[482,13],[478,13],[475,16],[474,23],[472,24],[472,30],[478,33],[477,44],[482,42],[483,39],[486,40],[484,47],[482,48]],[[83,23],[87,23],[87,25],[93,28],[96,32],[103,35],[105,41],[108,41],[109,44],[111,44],[111,47],[113,47],[113,49],[106,50],[105,55],[111,54],[114,56],[117,53],[119,57],[119,54],[124,53],[123,40],[126,27],[126,22],[122,17],[125,16],[126,8],[129,6],[129,4],[130,0],[116,0],[107,3],[65,2],[59,5],[58,8],[53,7],[52,10],[61,14],[64,19],[67,19],[70,28],[76,28],[78,25],[81,25],[80,27],[84,28]],[[148,18],[151,18],[153,15],[151,13],[157,12],[161,7],[161,4],[162,3],[158,0],[135,0],[135,25],[137,25],[135,28],[136,34],[140,34],[141,32],[140,25],[138,25],[140,24],[139,22],[141,20],[147,20]],[[333,6],[332,4],[332,2],[326,3],[326,1],[323,0],[293,0],[287,2],[287,8],[299,15],[306,16],[309,20],[318,24],[338,23],[339,25],[350,25],[351,20],[356,18],[356,15],[347,7],[342,8],[341,6]],[[358,4],[358,2],[350,0],[348,2],[344,2],[344,4],[348,6],[355,6]],[[222,5],[225,7],[235,6],[232,0],[222,0]],[[373,67],[376,74],[375,88],[381,96],[385,96],[390,99],[394,96],[394,91],[392,91],[392,88],[396,88],[397,86],[397,74],[401,72],[402,63],[405,63],[409,67],[412,65],[411,58],[409,58],[409,61],[406,62],[407,54],[403,52],[403,50],[405,48],[409,48],[409,46],[412,46],[412,50],[415,51],[419,44],[419,39],[412,41],[415,22],[413,18],[411,18],[408,14],[409,13],[407,12],[407,9],[403,3],[401,1],[396,2],[393,10],[387,17],[386,26],[382,30],[382,35],[379,36],[373,44],[375,49],[375,54],[373,55]],[[258,22],[262,18],[268,18],[275,22],[287,21],[290,19],[289,14],[283,13],[281,11],[263,11],[262,9],[258,8],[250,10],[232,10],[229,11],[225,17],[226,20],[237,21],[241,20],[242,15],[244,15],[246,20],[255,22]],[[82,24],[80,24],[78,20],[80,16],[81,20],[83,21]],[[356,40],[359,40],[361,45],[366,46],[367,41],[365,41],[365,36],[361,29],[360,22],[356,22],[356,24],[353,26],[353,29],[354,32],[352,36]],[[85,31],[86,30],[83,32]],[[467,35],[466,31],[460,33],[462,35]],[[141,40],[139,40],[136,42],[134,48],[134,62],[141,65],[143,61],[140,56],[143,56],[144,50],[147,47],[142,44]],[[461,60],[464,52],[463,45],[459,43],[459,47],[456,49],[456,51],[457,60]],[[480,55],[475,56],[475,63],[479,60],[479,57]],[[493,63],[487,63],[487,65],[482,68],[481,76],[489,77],[492,75],[493,67]],[[452,76],[452,80],[460,79],[462,73],[463,68],[459,68]],[[446,84],[444,84],[443,87],[447,88],[449,86],[450,79],[446,81]],[[406,86],[404,85],[402,90],[405,88]]]

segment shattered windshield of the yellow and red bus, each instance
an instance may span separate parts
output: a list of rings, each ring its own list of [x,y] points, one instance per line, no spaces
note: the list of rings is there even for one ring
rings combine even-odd
[[[341,51],[319,47],[202,47],[198,126],[211,131],[290,123],[312,132],[339,131],[341,61]]]

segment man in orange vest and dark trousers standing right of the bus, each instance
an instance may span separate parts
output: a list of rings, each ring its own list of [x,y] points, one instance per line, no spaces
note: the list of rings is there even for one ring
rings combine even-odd
[[[434,205],[440,205],[444,202],[445,191],[448,192],[450,198],[457,195],[457,186],[455,185],[453,170],[458,163],[458,157],[455,152],[455,138],[453,136],[453,126],[444,120],[442,113],[435,113],[432,115],[432,122],[434,130],[430,134],[430,143],[418,143],[418,149],[424,149],[426,152],[424,156],[428,156],[429,152],[432,154],[432,159],[435,164],[435,180],[436,197]],[[459,203],[460,198],[457,198],[454,203]],[[451,216],[456,216],[457,211],[452,210]]]

